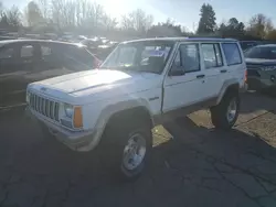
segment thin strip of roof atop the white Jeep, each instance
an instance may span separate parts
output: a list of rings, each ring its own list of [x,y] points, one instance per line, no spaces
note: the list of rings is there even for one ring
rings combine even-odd
[[[194,41],[202,41],[202,42],[237,42],[234,39],[217,39],[217,37],[156,37],[156,39],[139,39],[139,40],[131,40],[126,41],[124,43],[131,43],[131,42],[142,42],[142,41],[172,41],[172,42],[194,42]]]

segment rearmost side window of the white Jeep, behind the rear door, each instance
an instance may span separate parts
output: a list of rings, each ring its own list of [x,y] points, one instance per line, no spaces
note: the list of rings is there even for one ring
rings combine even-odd
[[[222,48],[227,65],[238,65],[243,63],[241,52],[236,43],[223,43]]]

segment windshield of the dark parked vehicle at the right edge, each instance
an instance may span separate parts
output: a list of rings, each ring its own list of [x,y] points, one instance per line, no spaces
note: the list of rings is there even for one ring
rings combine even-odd
[[[248,48],[244,56],[247,58],[276,59],[276,46],[255,46]]]

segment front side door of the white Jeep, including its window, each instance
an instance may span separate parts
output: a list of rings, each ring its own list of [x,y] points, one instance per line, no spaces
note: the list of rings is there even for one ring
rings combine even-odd
[[[191,106],[204,94],[198,43],[180,44],[172,67],[164,79],[163,112]]]

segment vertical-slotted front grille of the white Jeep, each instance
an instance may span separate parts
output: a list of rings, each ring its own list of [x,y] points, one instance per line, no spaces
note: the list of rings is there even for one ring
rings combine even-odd
[[[36,112],[52,119],[55,121],[59,120],[59,102],[53,100],[49,100],[44,97],[38,96],[35,94],[31,94],[30,96],[30,107]]]

